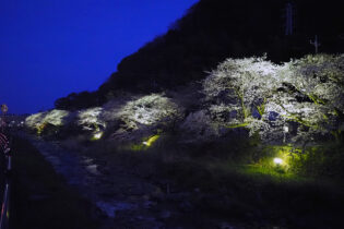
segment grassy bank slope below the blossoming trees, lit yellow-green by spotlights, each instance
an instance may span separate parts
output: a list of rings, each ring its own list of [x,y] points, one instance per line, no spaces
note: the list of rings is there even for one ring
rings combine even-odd
[[[343,182],[327,172],[315,172],[334,166],[337,160],[323,160],[323,155],[339,158],[341,148],[334,153],[333,146],[311,147],[290,159],[290,146],[258,147],[256,142],[244,141],[176,143],[173,136],[162,134],[142,150],[106,141],[93,143],[87,150],[107,162],[121,161],[147,179],[167,180],[171,192],[194,193],[188,202],[205,217],[244,222],[246,228],[344,228]],[[274,165],[274,157],[288,165]]]

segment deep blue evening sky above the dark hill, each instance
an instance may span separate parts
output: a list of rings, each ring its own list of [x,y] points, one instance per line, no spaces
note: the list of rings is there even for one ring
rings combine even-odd
[[[0,104],[37,112],[95,91],[198,0],[0,0]]]

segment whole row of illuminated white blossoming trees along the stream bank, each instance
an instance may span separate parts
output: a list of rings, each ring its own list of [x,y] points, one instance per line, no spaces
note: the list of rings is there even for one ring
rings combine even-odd
[[[343,70],[344,56],[307,56],[284,64],[264,57],[227,59],[202,81],[203,98],[182,103],[194,93],[191,86],[182,93],[131,95],[112,98],[103,107],[36,113],[26,125],[38,133],[74,126],[64,132],[82,129],[96,136],[104,132],[104,137],[115,141],[140,141],[171,129],[179,131],[181,142],[195,143],[242,129],[269,144],[340,141]]]

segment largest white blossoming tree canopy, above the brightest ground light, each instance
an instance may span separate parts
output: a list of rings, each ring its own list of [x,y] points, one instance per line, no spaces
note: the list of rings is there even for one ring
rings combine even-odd
[[[245,126],[265,142],[285,141],[285,135],[295,144],[339,138],[343,69],[344,56],[307,56],[282,65],[264,57],[227,59],[203,81],[203,92],[214,122]]]

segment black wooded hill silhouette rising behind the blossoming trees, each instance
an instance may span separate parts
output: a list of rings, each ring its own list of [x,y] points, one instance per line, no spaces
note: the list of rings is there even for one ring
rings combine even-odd
[[[285,35],[285,5],[294,7],[294,33]],[[201,80],[228,57],[268,55],[274,62],[287,61],[315,47],[321,52],[344,50],[344,3],[328,0],[200,0],[163,36],[126,57],[118,71],[93,93],[70,94],[56,107],[80,109],[104,104],[119,91],[159,92]]]

